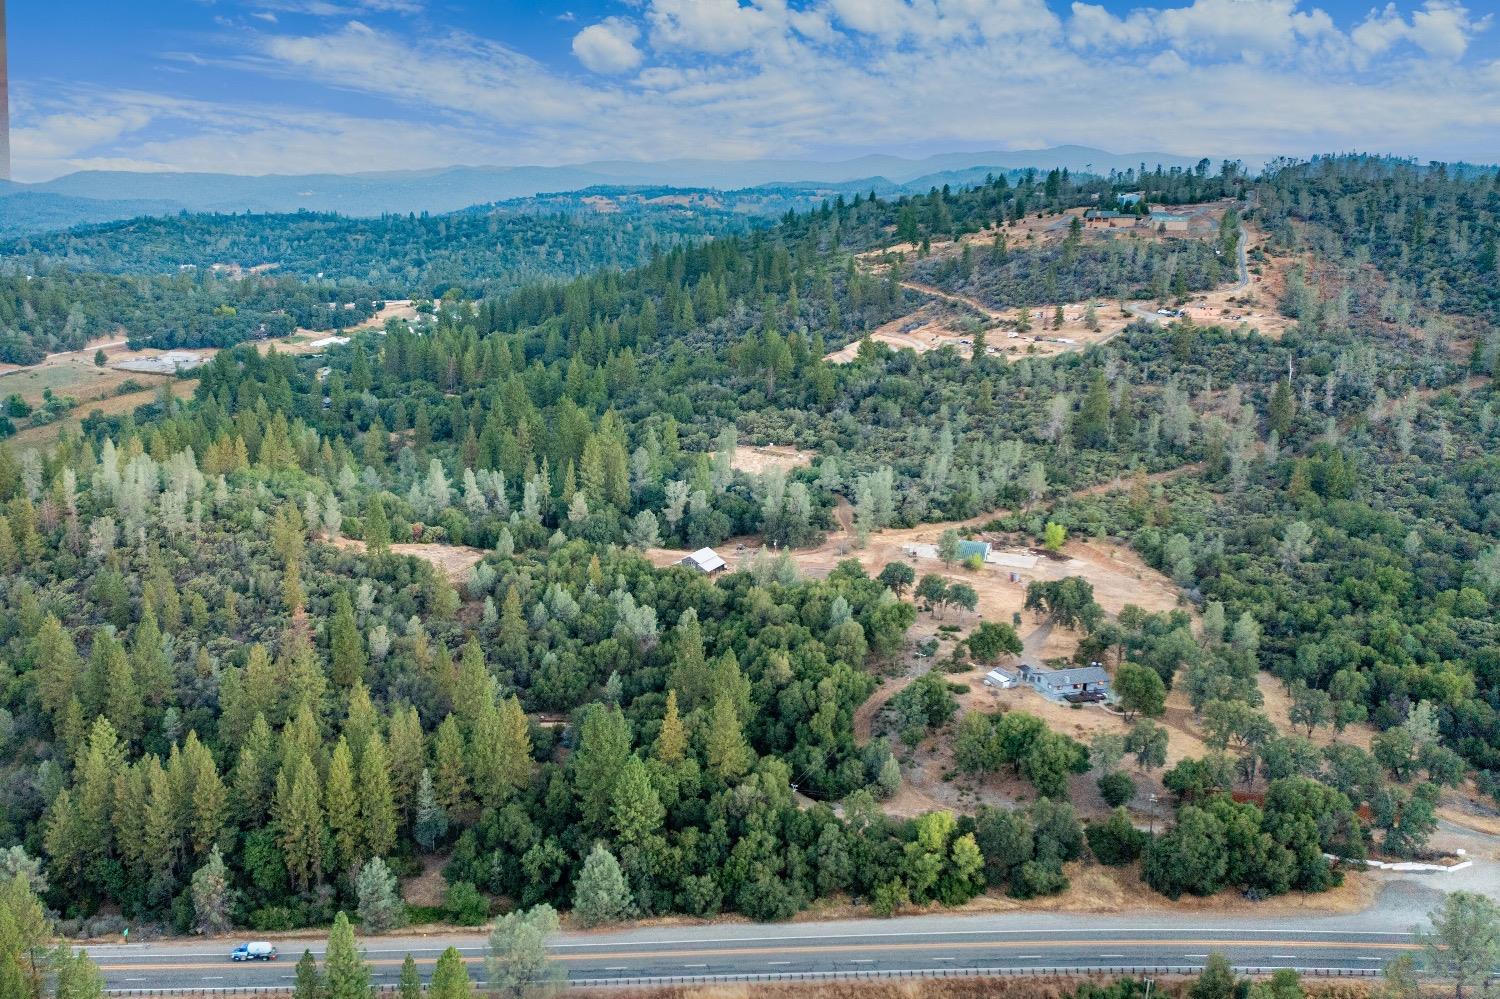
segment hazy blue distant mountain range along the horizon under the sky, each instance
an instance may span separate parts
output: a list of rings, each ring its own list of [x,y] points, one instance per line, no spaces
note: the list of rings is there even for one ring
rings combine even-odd
[[[794,189],[880,194],[964,184],[987,172],[1066,168],[1107,174],[1191,166],[1167,153],[1106,153],[1084,146],[1024,152],[944,153],[926,159],[860,156],[837,162],[754,159],[598,160],[568,166],[447,166],[366,174],[236,174],[81,171],[36,184],[0,182],[0,236],[21,236],[172,212],[447,213],[476,204],[585,188],[670,186],[735,190]],[[1263,159],[1246,164],[1258,168]]]

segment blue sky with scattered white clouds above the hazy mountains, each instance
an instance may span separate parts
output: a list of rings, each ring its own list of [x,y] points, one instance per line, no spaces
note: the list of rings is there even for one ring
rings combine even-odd
[[[1494,0],[9,0],[15,176],[1064,142],[1500,159]]]

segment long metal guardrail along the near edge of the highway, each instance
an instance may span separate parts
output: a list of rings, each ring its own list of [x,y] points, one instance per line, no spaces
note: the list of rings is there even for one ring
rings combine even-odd
[[[1276,964],[1269,968],[1234,964],[1233,970],[1240,975],[1270,975],[1272,972],[1290,968],[1299,975],[1310,978],[1378,978],[1376,968],[1298,968],[1294,964]],[[838,970],[808,970],[808,972],[744,972],[724,975],[640,975],[630,978],[568,978],[568,988],[621,988],[626,986],[728,986],[744,982],[772,981],[856,981],[879,978],[1083,978],[1083,976],[1120,976],[1120,975],[1194,975],[1203,970],[1203,964],[1120,964],[1101,968],[1095,964],[1068,968],[902,968],[902,969],[838,969]],[[483,988],[486,982],[476,982]],[[178,999],[204,999],[218,996],[285,996],[291,993],[291,986],[222,986],[214,988],[106,988],[111,996],[177,996]],[[372,996],[394,996],[398,987],[382,982],[370,987]]]

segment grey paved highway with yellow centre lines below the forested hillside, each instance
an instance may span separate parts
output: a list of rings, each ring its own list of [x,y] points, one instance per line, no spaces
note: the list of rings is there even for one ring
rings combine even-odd
[[[234,990],[290,987],[303,946],[282,940],[280,960],[232,963],[232,942],[172,942],[99,946],[90,952],[111,992]],[[483,981],[482,936],[398,936],[364,940],[376,984],[394,984],[410,952],[430,970],[442,948],[456,945]],[[1412,950],[1408,928],[1370,928],[1362,920],[1240,921],[1208,927],[1204,920],[1150,921],[1125,916],[1006,914],[918,916],[894,921],[783,926],[652,927],[560,934],[554,957],[574,984],[672,980],[710,975],[942,974],[958,969],[1156,969],[1197,968],[1226,954],[1244,968],[1374,972]]]

